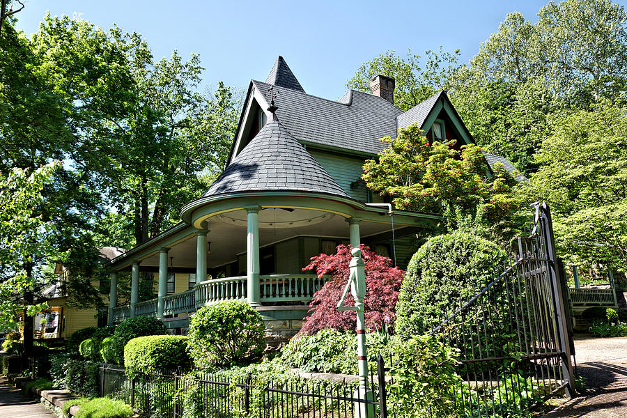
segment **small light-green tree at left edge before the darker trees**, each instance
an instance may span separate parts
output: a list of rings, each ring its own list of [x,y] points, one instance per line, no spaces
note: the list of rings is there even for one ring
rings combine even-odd
[[[38,261],[52,253],[53,230],[36,209],[58,167],[51,163],[32,172],[0,171],[0,330],[15,330],[20,315],[32,320],[45,308],[34,295],[45,279]],[[24,320],[25,348],[28,322]]]

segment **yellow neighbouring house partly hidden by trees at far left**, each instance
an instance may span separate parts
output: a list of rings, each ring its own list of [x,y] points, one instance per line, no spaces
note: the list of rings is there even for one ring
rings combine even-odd
[[[97,250],[102,262],[111,261],[124,252],[119,247],[99,247]],[[72,304],[68,304],[65,281],[68,280],[70,272],[62,263],[56,263],[54,273],[58,277],[56,284],[49,286],[42,292],[42,297],[47,302],[48,309],[35,316],[35,338],[64,339],[82,328],[107,325],[106,312],[103,313],[95,308],[79,309],[72,306]],[[102,277],[94,278],[91,281],[91,285],[95,288],[102,287],[102,279]]]

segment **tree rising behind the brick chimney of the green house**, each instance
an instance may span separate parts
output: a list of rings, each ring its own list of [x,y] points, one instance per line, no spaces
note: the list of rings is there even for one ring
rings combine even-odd
[[[459,49],[425,51],[426,62],[421,67],[420,56],[408,51],[402,58],[394,51],[386,51],[362,64],[355,76],[346,83],[347,88],[370,93],[370,80],[376,75],[393,77],[395,81],[394,106],[408,110],[435,93],[447,88],[449,78],[457,67]]]

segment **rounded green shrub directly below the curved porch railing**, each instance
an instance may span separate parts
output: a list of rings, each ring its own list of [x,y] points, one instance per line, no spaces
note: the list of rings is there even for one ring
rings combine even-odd
[[[202,307],[192,316],[188,335],[189,353],[199,369],[254,362],[265,350],[265,325],[246,302]]]

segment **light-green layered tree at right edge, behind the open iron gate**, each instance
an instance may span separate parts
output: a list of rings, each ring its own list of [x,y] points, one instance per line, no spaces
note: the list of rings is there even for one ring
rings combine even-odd
[[[627,107],[555,115],[526,192],[550,203],[558,253],[573,265],[627,269]]]

